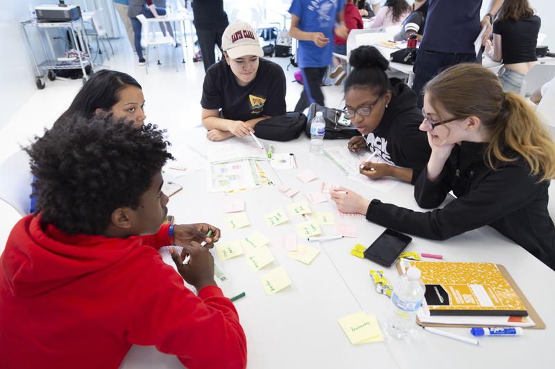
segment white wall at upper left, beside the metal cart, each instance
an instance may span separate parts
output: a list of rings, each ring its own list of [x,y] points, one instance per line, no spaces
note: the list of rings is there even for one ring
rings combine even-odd
[[[2,1],[0,12],[0,129],[36,91],[35,71],[23,41],[19,22],[30,18],[29,6],[58,3],[57,0]]]

